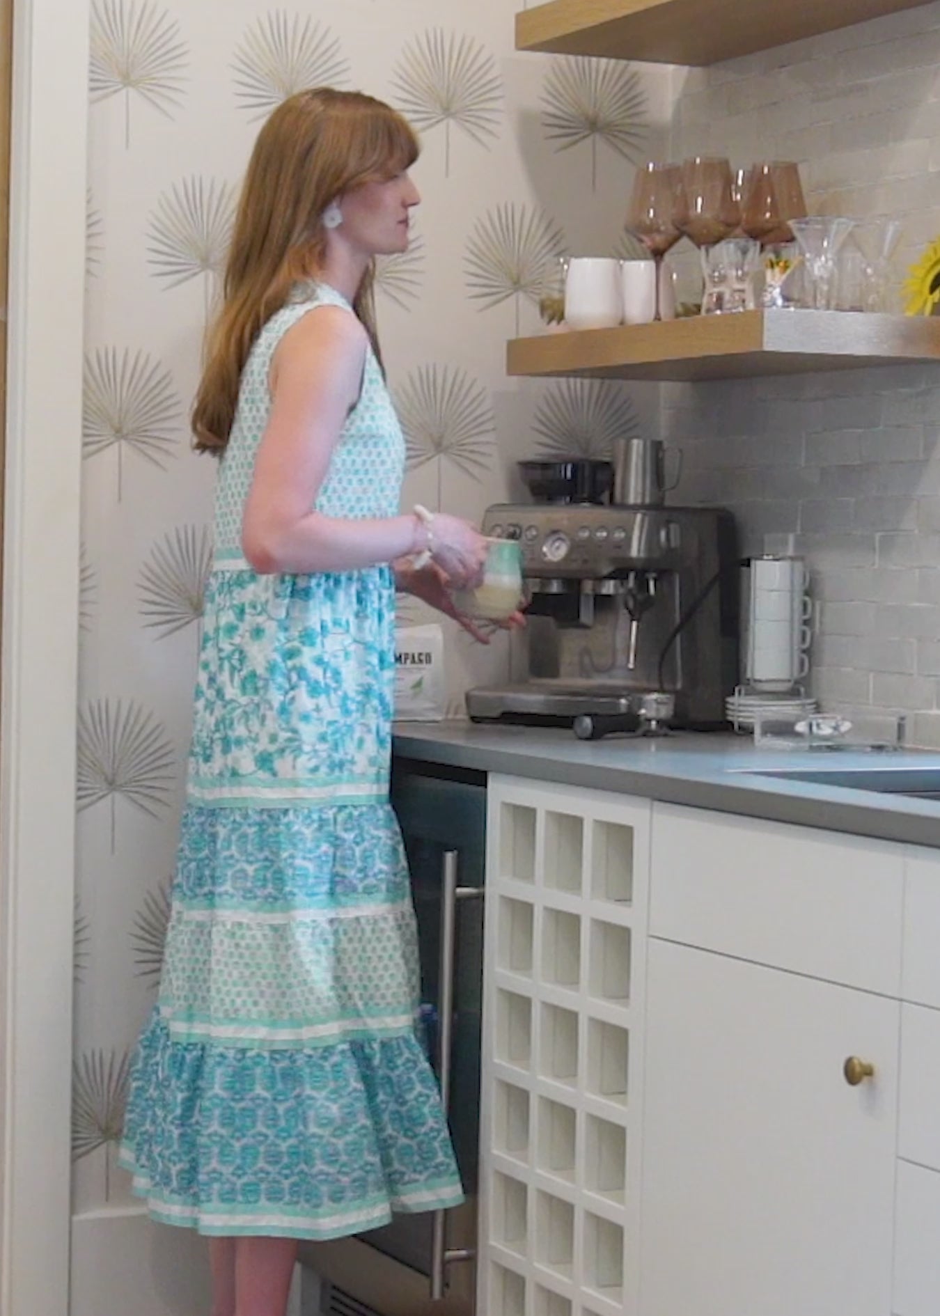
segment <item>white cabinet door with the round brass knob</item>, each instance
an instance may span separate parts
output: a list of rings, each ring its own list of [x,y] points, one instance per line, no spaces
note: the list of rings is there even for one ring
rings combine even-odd
[[[642,1316],[887,1316],[899,1008],[650,940]]]

